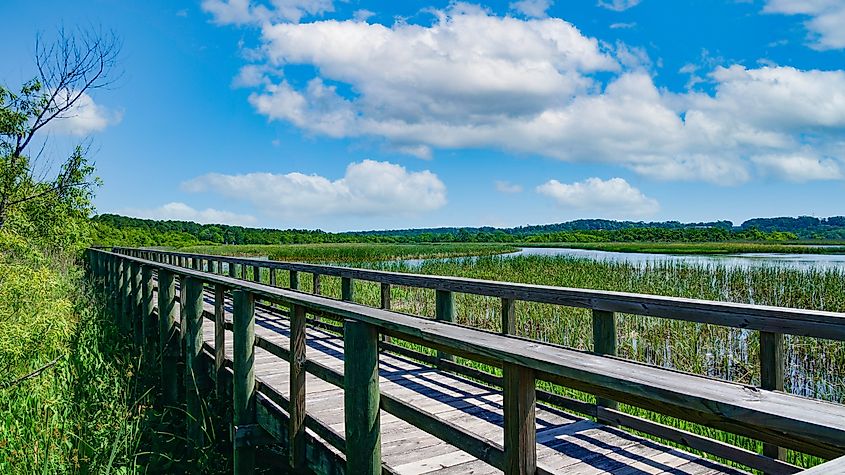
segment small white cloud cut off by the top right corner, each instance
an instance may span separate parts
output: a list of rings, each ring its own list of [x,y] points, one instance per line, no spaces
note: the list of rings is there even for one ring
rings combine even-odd
[[[768,0],[766,13],[802,15],[816,49],[845,48],[845,2],[842,0]]]

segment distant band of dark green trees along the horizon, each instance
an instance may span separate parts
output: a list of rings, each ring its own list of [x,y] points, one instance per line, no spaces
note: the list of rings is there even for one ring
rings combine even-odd
[[[328,233],[160,221],[103,214],[92,218],[98,245],[430,243],[430,242],[727,242],[845,239],[845,217],[756,218],[708,223],[578,220],[516,228],[431,228]]]

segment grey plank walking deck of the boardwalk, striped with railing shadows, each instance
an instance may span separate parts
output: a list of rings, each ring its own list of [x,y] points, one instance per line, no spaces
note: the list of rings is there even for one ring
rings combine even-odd
[[[207,314],[214,314],[214,294],[206,293]],[[231,301],[226,300],[231,322]],[[177,313],[178,314],[178,313]],[[290,320],[267,308],[256,307],[256,336],[289,349]],[[203,319],[205,343],[214,348],[214,322]],[[226,332],[226,358],[232,359],[230,331]],[[343,373],[343,339],[309,326],[308,360]],[[462,376],[440,371],[401,356],[381,352],[380,389],[427,413],[455,424],[479,437],[503,444],[502,391]],[[256,379],[289,397],[289,364],[256,348]],[[344,433],[344,394],[316,376],[306,375],[306,411],[320,423]],[[385,411],[381,411],[382,460],[402,474],[501,473],[456,447]],[[702,459],[678,449],[634,436],[547,405],[538,404],[538,468],[568,474],[739,474],[746,473]],[[326,444],[329,446],[329,444]]]

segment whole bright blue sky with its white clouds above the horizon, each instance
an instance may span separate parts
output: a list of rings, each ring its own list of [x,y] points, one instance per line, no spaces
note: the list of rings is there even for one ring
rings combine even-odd
[[[841,215],[845,1],[5,1],[122,39],[98,212],[279,228]]]

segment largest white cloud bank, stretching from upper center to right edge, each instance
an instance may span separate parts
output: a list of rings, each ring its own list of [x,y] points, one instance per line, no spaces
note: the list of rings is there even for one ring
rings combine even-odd
[[[493,148],[720,185],[763,171],[756,156],[811,149],[845,161],[842,70],[717,67],[672,92],[655,85],[644,50],[559,18],[463,3],[433,14],[430,25],[267,22],[263,57],[239,82],[254,85],[249,101],[270,120],[426,159]],[[316,73],[294,84],[284,79],[292,65]]]

